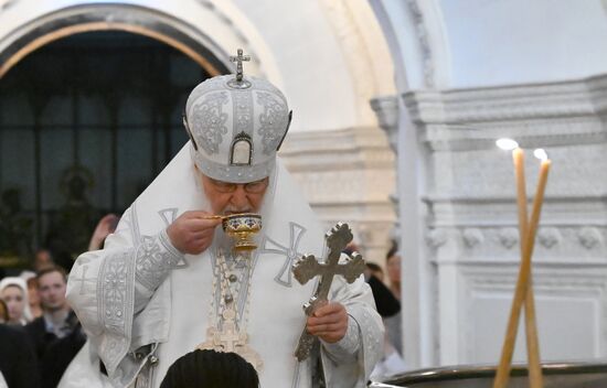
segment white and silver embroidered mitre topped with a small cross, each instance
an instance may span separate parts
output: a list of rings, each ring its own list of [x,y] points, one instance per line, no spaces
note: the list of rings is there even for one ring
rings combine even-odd
[[[238,50],[235,75],[209,78],[192,90],[183,123],[192,157],[206,176],[247,183],[268,176],[291,114],[283,93],[269,82],[243,74]]]

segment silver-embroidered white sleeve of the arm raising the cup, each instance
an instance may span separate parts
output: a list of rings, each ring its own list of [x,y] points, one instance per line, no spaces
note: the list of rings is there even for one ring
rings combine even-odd
[[[164,230],[136,236],[131,217],[129,208],[104,249],[78,257],[67,282],[67,300],[110,380],[123,380],[117,368],[134,351],[134,322],[182,258]]]

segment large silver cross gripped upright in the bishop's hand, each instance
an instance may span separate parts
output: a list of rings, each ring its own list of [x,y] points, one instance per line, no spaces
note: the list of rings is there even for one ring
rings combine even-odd
[[[295,279],[301,284],[306,284],[310,279],[320,276],[320,282],[313,297],[308,303],[303,304],[303,311],[308,316],[312,315],[318,308],[329,302],[329,291],[337,274],[342,276],[347,282],[352,283],[364,271],[364,260],[358,252],[349,256],[344,263],[339,262],[341,251],[348,242],[352,241],[352,231],[348,224],[338,223],[327,233],[324,239],[327,240],[329,254],[322,263],[313,255],[307,255],[292,266]],[[303,333],[301,333],[299,344],[295,351],[295,356],[299,362],[308,358],[317,340],[316,336],[309,334],[303,328]]]

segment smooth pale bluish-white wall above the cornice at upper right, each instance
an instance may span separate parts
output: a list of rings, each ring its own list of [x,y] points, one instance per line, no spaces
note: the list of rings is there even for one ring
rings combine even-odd
[[[600,0],[440,0],[448,87],[543,83],[607,71]]]

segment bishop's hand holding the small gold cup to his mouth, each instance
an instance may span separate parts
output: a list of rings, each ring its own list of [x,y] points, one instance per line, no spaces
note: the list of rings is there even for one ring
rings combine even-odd
[[[213,242],[215,227],[221,219],[211,218],[212,214],[203,211],[185,212],[167,228],[167,235],[182,254],[198,255]]]

